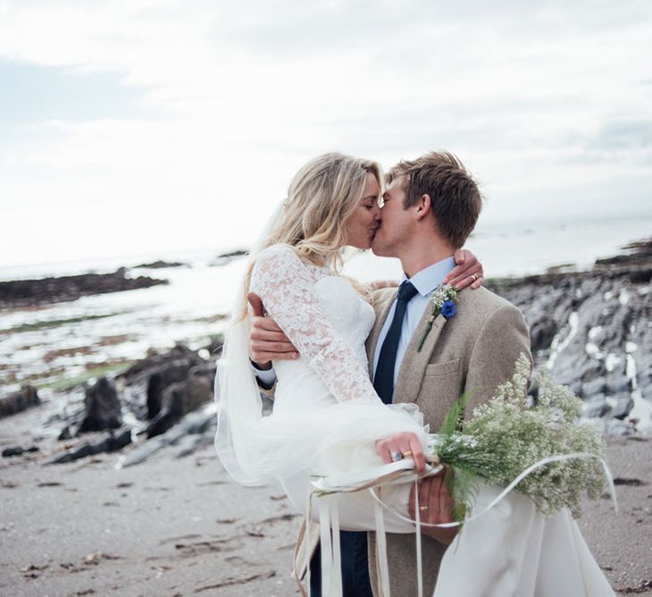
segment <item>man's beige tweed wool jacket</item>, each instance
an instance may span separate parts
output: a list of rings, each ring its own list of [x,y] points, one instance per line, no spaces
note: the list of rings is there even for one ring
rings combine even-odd
[[[376,321],[367,340],[369,369],[382,325],[396,295],[395,288],[376,290],[373,307]],[[436,432],[453,402],[464,393],[472,394],[466,409],[489,399],[497,385],[514,373],[514,363],[521,353],[530,354],[530,334],[521,312],[504,298],[481,288],[463,290],[457,314],[447,320],[439,315],[423,343],[417,346],[430,318],[430,307],[420,323],[398,372],[395,401],[415,402],[422,410],[430,431]],[[305,574],[306,562],[318,542],[319,531],[312,526],[310,545],[305,542],[305,527],[297,542],[295,576]],[[439,564],[447,546],[430,537],[422,537],[422,571],[424,594],[435,589]],[[391,594],[411,597],[417,594],[416,551],[414,534],[388,534],[387,556]],[[374,594],[379,596],[375,534],[369,534],[369,569]]]

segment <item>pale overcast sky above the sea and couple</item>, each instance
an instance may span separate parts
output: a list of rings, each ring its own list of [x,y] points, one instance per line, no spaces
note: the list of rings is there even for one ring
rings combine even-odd
[[[650,215],[651,55],[649,0],[0,0],[0,265],[247,245],[330,150]]]

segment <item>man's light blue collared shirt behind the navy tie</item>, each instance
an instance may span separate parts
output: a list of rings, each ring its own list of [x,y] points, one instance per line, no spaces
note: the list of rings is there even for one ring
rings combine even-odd
[[[405,310],[405,317],[403,319],[403,327],[401,328],[401,336],[398,339],[398,350],[397,350],[397,360],[394,365],[394,387],[397,386],[398,379],[398,370],[401,368],[401,363],[403,363],[403,357],[405,357],[405,350],[412,340],[414,335],[414,330],[416,326],[421,321],[423,316],[423,311],[428,306],[430,293],[435,290],[438,286],[441,286],[441,282],[446,278],[447,273],[450,273],[455,267],[455,258],[448,257],[443,261],[438,261],[436,264],[429,265],[425,269],[422,269],[421,272],[417,272],[409,278],[410,282],[413,283],[414,288],[417,290],[417,294],[414,295],[414,298],[407,303],[407,309]],[[403,280],[408,280],[407,276],[403,276]],[[385,341],[387,332],[389,332],[389,326],[391,321],[394,318],[394,311],[397,308],[397,300],[394,299],[394,303],[389,307],[389,313],[385,323],[382,325],[380,330],[380,336],[378,337],[378,343],[376,344],[375,354],[373,355],[373,376],[376,376],[376,367],[378,366],[378,359],[380,357],[380,348],[382,343]]]

